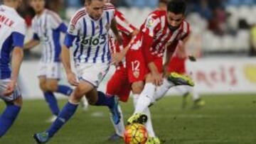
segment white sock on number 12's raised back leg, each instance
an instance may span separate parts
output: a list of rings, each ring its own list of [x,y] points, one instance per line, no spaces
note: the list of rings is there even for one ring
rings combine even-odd
[[[156,92],[154,94],[154,99],[152,102],[154,101],[158,101],[159,99],[161,99],[162,97],[164,97],[164,95],[166,94],[166,92],[168,92],[168,90],[171,87],[174,87],[175,85],[172,82],[169,82],[167,79],[164,79],[163,84],[161,84],[161,86],[156,87]]]

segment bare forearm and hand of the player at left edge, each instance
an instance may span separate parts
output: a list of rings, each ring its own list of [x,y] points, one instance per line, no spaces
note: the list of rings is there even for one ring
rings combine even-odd
[[[20,47],[15,47],[11,56],[11,82],[9,82],[6,91],[4,92],[5,96],[9,96],[12,92],[14,92],[14,87],[17,83],[18,72],[20,70],[22,60],[23,49]]]

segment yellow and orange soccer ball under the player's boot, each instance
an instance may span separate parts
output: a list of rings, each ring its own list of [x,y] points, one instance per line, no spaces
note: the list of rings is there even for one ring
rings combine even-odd
[[[133,123],[125,127],[124,143],[144,144],[148,138],[146,127],[140,123]]]

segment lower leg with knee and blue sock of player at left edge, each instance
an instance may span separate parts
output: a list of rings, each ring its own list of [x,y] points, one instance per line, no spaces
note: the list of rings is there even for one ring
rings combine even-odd
[[[22,97],[18,96],[14,101],[6,101],[6,109],[0,117],[0,138],[11,128],[18,113],[21,111]]]

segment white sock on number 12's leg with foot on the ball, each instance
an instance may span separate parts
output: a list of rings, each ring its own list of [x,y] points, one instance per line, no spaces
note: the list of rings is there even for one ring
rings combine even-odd
[[[145,109],[151,104],[155,93],[156,85],[153,83],[146,83],[142,93],[139,95],[137,106],[134,113],[143,113]]]

